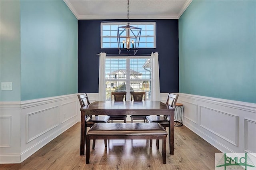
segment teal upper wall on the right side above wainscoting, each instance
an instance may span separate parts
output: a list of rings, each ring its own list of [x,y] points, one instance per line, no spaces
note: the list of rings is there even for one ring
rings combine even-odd
[[[193,0],[179,19],[179,91],[256,103],[256,1]]]

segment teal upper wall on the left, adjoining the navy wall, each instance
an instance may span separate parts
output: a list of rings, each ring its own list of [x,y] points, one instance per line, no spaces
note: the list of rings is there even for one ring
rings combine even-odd
[[[60,0],[20,1],[21,100],[78,92],[77,19]]]

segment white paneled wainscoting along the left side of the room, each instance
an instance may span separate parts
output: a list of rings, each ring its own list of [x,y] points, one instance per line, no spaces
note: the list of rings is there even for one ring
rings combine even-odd
[[[0,163],[20,163],[80,119],[77,94],[1,102]]]

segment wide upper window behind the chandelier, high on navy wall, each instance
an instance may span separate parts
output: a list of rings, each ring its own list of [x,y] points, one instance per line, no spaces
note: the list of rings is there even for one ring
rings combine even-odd
[[[101,48],[117,48],[118,26],[126,26],[125,22],[101,23]],[[141,28],[139,48],[156,48],[156,23],[155,22],[131,22],[131,26]]]

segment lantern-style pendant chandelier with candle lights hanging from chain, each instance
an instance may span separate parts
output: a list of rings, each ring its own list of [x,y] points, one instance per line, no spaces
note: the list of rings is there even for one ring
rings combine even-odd
[[[135,55],[139,47],[141,28],[130,26],[129,0],[127,1],[127,20],[127,25],[120,26],[117,30],[118,50],[119,54]]]

